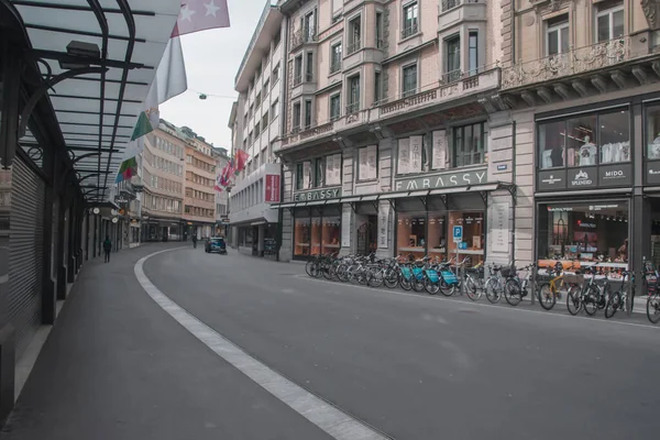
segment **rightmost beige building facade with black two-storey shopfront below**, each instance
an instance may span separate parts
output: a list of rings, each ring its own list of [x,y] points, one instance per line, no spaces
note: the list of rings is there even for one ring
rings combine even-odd
[[[658,2],[503,2],[516,258],[660,263]]]

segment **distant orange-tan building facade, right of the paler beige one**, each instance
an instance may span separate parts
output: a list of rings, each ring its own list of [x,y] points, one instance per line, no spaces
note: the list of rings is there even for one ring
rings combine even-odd
[[[216,229],[216,160],[211,150],[212,145],[197,136],[190,136],[184,150],[186,239],[193,235],[198,240],[209,238]]]

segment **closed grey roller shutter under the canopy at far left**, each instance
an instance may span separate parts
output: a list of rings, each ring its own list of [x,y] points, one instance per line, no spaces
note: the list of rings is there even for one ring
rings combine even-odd
[[[44,202],[44,182],[16,157],[12,166],[8,296],[16,358],[41,324]]]

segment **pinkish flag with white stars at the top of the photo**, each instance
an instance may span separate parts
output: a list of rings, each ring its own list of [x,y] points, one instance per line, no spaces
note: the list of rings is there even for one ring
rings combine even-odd
[[[227,0],[182,0],[182,12],[172,36],[215,28],[229,28]]]

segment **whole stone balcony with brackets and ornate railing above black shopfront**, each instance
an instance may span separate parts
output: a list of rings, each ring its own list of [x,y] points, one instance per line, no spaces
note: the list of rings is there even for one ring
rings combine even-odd
[[[518,98],[535,106],[652,84],[660,76],[660,62],[648,38],[636,35],[518,63],[502,75],[509,107],[519,106]]]

